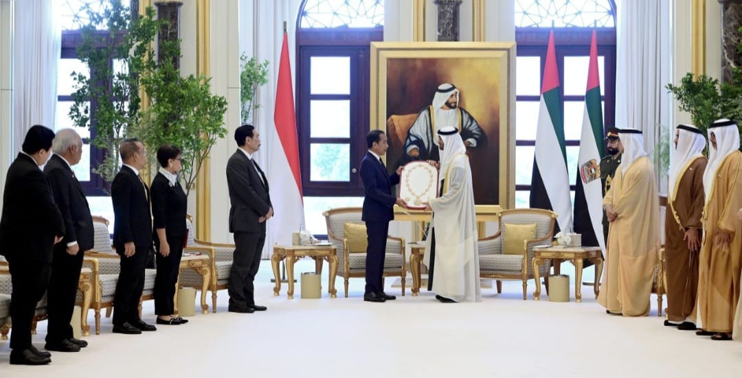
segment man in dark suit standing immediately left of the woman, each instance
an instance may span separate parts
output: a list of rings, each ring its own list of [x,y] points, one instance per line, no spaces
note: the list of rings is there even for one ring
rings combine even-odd
[[[157,330],[139,318],[145,263],[152,248],[149,188],[139,176],[139,170],[147,166],[147,153],[138,139],[126,139],[119,146],[119,154],[124,164],[111,183],[116,218],[114,248],[121,256],[114,296],[114,333],[141,334]]]

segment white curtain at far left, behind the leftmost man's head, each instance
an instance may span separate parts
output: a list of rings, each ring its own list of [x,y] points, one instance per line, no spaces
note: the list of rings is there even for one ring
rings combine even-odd
[[[55,0],[16,1],[13,36],[13,152],[21,150],[33,125],[54,129],[56,67],[62,32],[56,26]]]

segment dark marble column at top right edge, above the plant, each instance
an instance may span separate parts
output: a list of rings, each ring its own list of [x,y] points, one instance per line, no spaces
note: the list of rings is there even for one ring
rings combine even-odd
[[[732,70],[742,64],[742,56],[737,50],[742,26],[742,0],[719,0],[719,3],[721,4],[722,80],[729,82],[732,79]]]

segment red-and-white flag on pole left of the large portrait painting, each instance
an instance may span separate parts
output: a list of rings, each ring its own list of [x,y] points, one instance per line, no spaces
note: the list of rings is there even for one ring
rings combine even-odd
[[[292,232],[299,231],[304,223],[294,89],[289,62],[289,37],[286,33],[283,33],[283,47],[280,52],[274,111],[275,128],[270,130],[272,135],[267,143],[271,164],[266,175],[275,211],[266,225],[266,245],[269,250],[275,243],[291,245]]]

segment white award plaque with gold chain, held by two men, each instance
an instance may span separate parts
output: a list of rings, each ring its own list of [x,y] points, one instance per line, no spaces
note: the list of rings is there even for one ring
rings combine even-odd
[[[409,162],[404,165],[399,178],[399,198],[407,207],[424,209],[424,202],[438,196],[438,170],[424,161]]]

